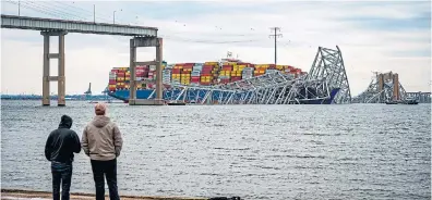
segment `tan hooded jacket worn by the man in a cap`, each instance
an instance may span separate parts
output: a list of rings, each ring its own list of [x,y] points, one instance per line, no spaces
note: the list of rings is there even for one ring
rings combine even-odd
[[[96,161],[116,159],[123,145],[119,127],[104,115],[96,115],[85,126],[81,140],[85,154]]]

